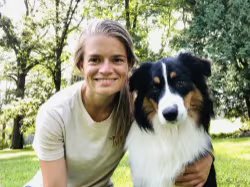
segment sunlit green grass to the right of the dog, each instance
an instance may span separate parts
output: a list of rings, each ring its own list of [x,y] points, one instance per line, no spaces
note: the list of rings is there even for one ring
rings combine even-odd
[[[218,186],[250,186],[250,138],[215,139]]]

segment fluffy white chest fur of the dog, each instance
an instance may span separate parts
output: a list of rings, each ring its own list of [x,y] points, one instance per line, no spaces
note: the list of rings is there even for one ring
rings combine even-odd
[[[174,186],[185,165],[210,150],[210,137],[192,120],[153,124],[154,132],[145,132],[134,122],[126,140],[135,187]]]

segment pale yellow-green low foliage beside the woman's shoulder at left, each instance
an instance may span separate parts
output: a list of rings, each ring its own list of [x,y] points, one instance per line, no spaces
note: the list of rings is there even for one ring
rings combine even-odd
[[[5,139],[0,137],[0,147],[9,147],[13,119],[18,115],[23,116],[21,132],[23,134],[34,134],[38,108],[55,90],[51,79],[48,77],[49,73],[45,68],[36,66],[27,75],[25,98],[17,98],[13,88],[6,90],[5,96],[8,98],[2,100],[0,113],[0,132],[1,134],[5,133]]]

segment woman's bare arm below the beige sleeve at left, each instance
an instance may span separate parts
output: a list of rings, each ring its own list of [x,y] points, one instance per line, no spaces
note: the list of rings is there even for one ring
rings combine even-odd
[[[67,171],[65,159],[61,158],[55,161],[40,160],[43,186],[45,187],[66,187]]]

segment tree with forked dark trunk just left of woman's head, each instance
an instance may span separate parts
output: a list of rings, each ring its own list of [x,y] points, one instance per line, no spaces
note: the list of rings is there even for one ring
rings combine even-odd
[[[44,66],[51,72],[56,91],[61,88],[62,63],[69,60],[69,53],[64,51],[68,36],[84,19],[80,3],[80,0],[41,2],[41,9],[46,10],[43,15],[46,27],[51,28],[41,53],[46,57]]]

